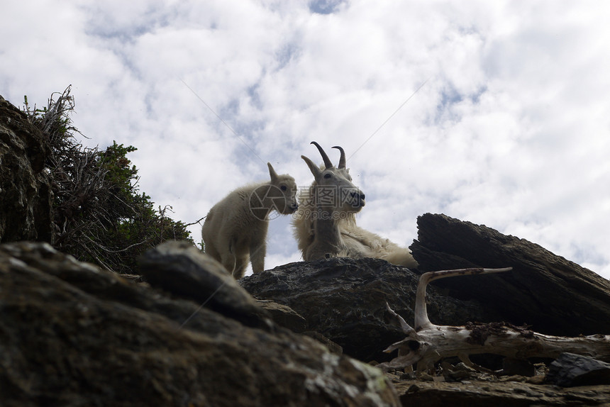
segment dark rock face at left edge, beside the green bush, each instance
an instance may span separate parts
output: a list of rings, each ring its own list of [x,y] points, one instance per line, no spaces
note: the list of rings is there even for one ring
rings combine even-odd
[[[45,135],[26,114],[0,100],[0,242],[52,241],[52,190],[43,171]]]

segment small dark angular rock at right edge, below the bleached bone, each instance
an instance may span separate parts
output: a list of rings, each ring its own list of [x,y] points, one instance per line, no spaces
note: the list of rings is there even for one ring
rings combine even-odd
[[[610,384],[610,363],[564,352],[550,364],[546,381],[562,387]]]

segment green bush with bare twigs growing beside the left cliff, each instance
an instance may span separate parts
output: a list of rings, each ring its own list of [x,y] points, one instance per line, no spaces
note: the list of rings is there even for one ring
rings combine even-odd
[[[189,240],[187,224],[166,216],[170,206],[155,209],[138,190],[138,169],[127,158],[136,150],[117,144],[99,150],[83,147],[72,125],[70,87],[52,94],[48,106],[24,111],[50,140],[45,169],[54,194],[52,245],[78,260],[120,273],[137,273],[139,255],[165,240]]]

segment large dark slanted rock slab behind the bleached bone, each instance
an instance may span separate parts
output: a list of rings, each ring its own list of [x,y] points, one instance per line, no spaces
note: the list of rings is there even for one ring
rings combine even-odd
[[[560,336],[610,333],[610,281],[543,247],[484,225],[445,215],[419,216],[411,245],[419,271],[513,267],[489,276],[453,277],[432,285],[484,303],[495,321],[526,323]],[[499,316],[498,316],[499,314]],[[481,322],[493,322],[482,320]]]

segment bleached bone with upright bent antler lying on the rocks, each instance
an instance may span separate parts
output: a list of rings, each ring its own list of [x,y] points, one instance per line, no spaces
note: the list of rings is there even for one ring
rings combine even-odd
[[[411,369],[433,371],[434,364],[445,357],[459,357],[467,366],[487,371],[470,361],[470,355],[490,353],[516,359],[528,357],[558,357],[562,352],[587,355],[610,361],[610,335],[589,335],[577,338],[543,335],[527,327],[509,323],[467,323],[465,326],[434,325],[426,311],[426,286],[443,277],[468,274],[507,272],[504,269],[457,269],[427,272],[421,275],[416,293],[415,328],[387,305],[398,319],[406,338],[390,345],[385,352],[398,350],[398,357],[379,364],[384,370]],[[487,371],[489,372],[489,371]]]

